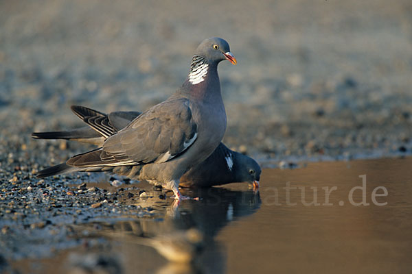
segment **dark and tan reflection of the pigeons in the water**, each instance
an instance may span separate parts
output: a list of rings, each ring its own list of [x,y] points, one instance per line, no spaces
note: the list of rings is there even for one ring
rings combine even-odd
[[[139,264],[139,258],[150,258],[159,265],[159,258],[148,257],[148,249],[142,245],[154,248],[169,261],[157,273],[225,273],[225,251],[214,237],[231,221],[257,211],[261,203],[259,192],[227,188],[193,191],[200,201],[187,200],[179,207],[168,206],[161,221],[158,218],[114,225],[100,223],[101,229],[94,232],[120,242],[121,256],[132,256],[130,261],[135,264]]]

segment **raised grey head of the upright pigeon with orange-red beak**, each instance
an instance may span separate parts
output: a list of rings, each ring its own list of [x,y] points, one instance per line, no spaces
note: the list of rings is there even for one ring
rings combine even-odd
[[[205,58],[209,64],[228,60],[232,64],[238,64],[235,56],[230,52],[229,44],[222,38],[212,37],[201,42],[196,49],[195,55]]]

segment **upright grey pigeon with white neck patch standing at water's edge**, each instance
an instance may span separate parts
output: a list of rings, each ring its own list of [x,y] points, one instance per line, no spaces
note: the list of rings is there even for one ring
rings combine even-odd
[[[204,40],[174,95],[137,116],[99,149],[43,169],[38,177],[135,166],[129,177],[159,182],[174,192],[175,199],[185,199],[179,192],[180,178],[209,157],[225,134],[226,112],[218,77],[222,60],[237,63],[229,44],[221,38]]]

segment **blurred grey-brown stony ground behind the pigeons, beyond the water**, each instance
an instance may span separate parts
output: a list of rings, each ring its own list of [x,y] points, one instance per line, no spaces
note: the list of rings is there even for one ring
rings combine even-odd
[[[219,68],[232,149],[260,161],[411,153],[409,0],[1,1],[0,26],[2,153],[81,125],[72,104],[163,101],[209,36],[238,59]]]

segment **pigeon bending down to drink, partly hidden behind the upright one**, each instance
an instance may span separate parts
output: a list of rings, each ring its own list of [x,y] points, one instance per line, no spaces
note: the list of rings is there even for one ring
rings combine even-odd
[[[66,139],[87,142],[99,147],[104,140],[126,127],[141,112],[111,112],[104,114],[97,110],[72,105],[71,110],[87,123],[89,127],[71,129],[65,132],[34,132],[34,138]],[[110,171],[127,176],[133,173],[135,166],[117,166]],[[107,167],[104,167],[108,171]],[[138,166],[137,166],[138,169]],[[259,187],[261,169],[259,164],[242,153],[232,151],[222,142],[209,157],[192,167],[180,179],[180,186],[216,186],[233,182],[248,182],[253,188]]]

